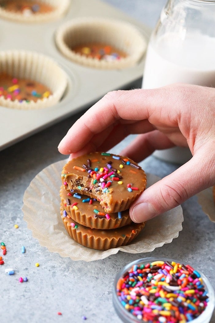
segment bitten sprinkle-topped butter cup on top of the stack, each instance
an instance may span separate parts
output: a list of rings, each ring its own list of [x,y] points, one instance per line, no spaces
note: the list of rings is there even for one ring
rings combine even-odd
[[[62,171],[66,191],[72,190],[100,202],[104,212],[129,209],[146,188],[146,174],[130,158],[92,152],[67,162]]]

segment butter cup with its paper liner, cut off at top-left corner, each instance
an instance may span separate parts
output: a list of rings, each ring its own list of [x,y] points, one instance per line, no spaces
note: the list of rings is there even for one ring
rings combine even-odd
[[[70,5],[70,0],[39,0],[38,5],[37,1],[32,1],[32,5],[29,5],[31,1],[0,0],[1,3],[4,6],[0,5],[0,18],[21,23],[39,23],[62,17]],[[16,10],[16,5],[19,3],[20,6],[22,3],[26,5],[23,11]],[[35,5],[33,5],[34,3]],[[13,10],[13,4],[15,10]]]

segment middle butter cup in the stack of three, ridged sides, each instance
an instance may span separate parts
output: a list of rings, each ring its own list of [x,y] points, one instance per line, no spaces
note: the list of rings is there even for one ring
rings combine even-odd
[[[99,205],[98,201],[96,201],[96,203],[93,202],[92,212],[88,212],[88,211],[83,212],[83,205],[85,205],[85,203],[82,203],[82,202],[78,203],[78,210],[75,210],[75,209],[73,209],[73,207],[71,207],[71,205],[68,205],[66,203],[66,198],[69,198],[71,200],[71,204],[73,204],[74,201],[77,199],[67,196],[66,193],[67,192],[64,190],[63,185],[62,185],[61,189],[60,189],[60,198],[61,198],[61,202],[63,203],[64,210],[74,221],[76,221],[79,224],[82,224],[84,226],[88,226],[89,228],[107,230],[107,229],[119,228],[121,226],[130,224],[132,222],[132,220],[129,216],[129,210],[122,211],[121,218],[118,217],[118,213],[116,213],[116,214],[110,213],[109,214],[110,219],[106,219],[105,217],[103,219],[101,219],[99,217],[94,217],[94,215],[93,215],[94,206],[96,206],[96,209],[98,211],[103,212],[103,208],[101,207],[101,205]],[[84,196],[84,198],[89,197],[86,195],[83,195],[83,196]]]

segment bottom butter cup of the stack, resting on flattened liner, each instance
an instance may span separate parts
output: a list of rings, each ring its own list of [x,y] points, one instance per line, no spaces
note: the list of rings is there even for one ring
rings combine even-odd
[[[144,228],[144,223],[133,223],[110,230],[91,229],[64,216],[61,203],[61,218],[70,237],[87,248],[108,250],[128,245]]]

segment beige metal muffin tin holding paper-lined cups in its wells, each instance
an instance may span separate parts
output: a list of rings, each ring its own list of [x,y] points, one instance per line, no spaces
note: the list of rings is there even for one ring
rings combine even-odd
[[[99,0],[73,0],[64,16],[54,21],[20,23],[0,19],[0,50],[23,50],[46,55],[67,75],[67,87],[61,100],[44,109],[12,109],[0,106],[0,150],[88,108],[105,93],[126,89],[142,77],[145,55],[133,66],[122,69],[98,69],[82,66],[64,57],[55,44],[57,30],[76,18],[97,17],[131,23],[148,42],[151,29]],[[10,125],[10,127],[8,127]]]

